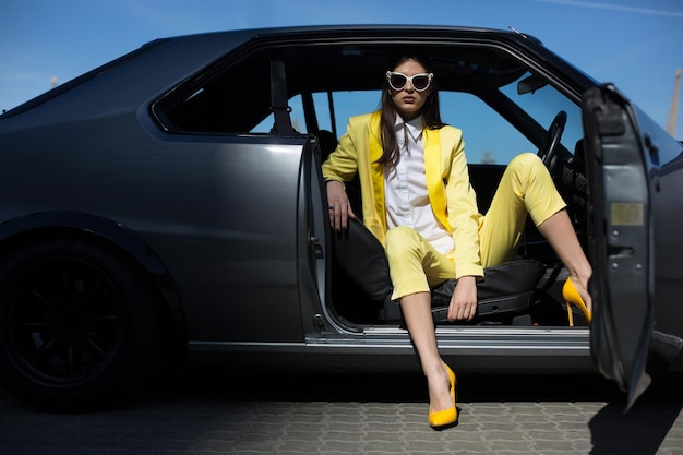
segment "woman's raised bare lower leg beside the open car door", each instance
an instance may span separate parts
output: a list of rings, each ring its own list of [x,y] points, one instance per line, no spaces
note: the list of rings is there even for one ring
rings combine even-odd
[[[588,280],[592,275],[592,267],[576,238],[574,226],[566,211],[560,211],[546,219],[538,225],[538,230],[567,267],[578,295],[584,299],[588,310],[592,311],[592,299],[588,294]]]

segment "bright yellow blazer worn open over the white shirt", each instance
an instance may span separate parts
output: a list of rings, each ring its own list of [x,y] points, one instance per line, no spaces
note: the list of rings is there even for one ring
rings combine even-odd
[[[323,163],[325,181],[360,180],[362,216],[366,227],[384,244],[384,165],[380,141],[380,111],[351,117],[337,148]],[[463,132],[453,127],[426,129],[424,173],[434,216],[453,235],[456,276],[483,276],[479,255],[481,215],[469,184]]]

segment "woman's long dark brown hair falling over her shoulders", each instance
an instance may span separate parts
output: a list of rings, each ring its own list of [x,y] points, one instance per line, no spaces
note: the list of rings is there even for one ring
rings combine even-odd
[[[432,72],[430,68],[424,63],[424,60],[416,56],[403,56],[398,58],[388,71],[394,71],[407,61],[415,61],[420,63],[427,72]],[[435,80],[435,77],[434,77]],[[430,130],[436,130],[444,125],[441,121],[441,110],[439,108],[439,91],[436,89],[435,81],[432,80],[431,93],[424,100],[421,115],[424,120],[426,128]],[[382,115],[380,117],[380,141],[382,142],[382,156],[378,159],[378,163],[388,166],[396,166],[400,157],[398,149],[398,142],[396,141],[396,105],[392,99],[392,87],[388,85],[386,77],[382,87]]]

